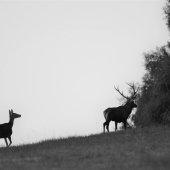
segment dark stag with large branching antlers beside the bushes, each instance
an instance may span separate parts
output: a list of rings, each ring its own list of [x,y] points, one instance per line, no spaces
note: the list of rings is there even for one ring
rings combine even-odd
[[[128,84],[128,83],[126,83]],[[135,88],[134,83],[133,84],[128,84],[131,89],[133,90],[132,95],[130,97],[125,96],[123,94],[123,91],[120,92],[119,86],[115,88],[115,90],[123,97],[126,99],[126,103],[122,106],[119,107],[113,107],[113,108],[107,108],[104,110],[104,118],[105,122],[103,123],[103,132],[105,133],[105,126],[107,131],[109,132],[109,123],[110,121],[115,121],[115,131],[117,130],[117,124],[118,123],[123,123],[124,124],[124,129],[126,130],[126,123],[129,115],[131,114],[133,108],[137,108],[137,104],[135,104],[134,100],[136,99],[137,96],[137,91],[139,88]]]

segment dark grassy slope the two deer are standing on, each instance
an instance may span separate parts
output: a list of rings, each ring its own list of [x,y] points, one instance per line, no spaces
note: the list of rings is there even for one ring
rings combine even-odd
[[[170,128],[137,128],[0,148],[0,169],[168,170]]]

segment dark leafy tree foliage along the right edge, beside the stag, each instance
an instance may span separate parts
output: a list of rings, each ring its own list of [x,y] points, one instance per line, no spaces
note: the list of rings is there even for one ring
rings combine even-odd
[[[170,0],[164,8],[170,31]],[[170,42],[144,53],[146,73],[138,97],[138,110],[133,117],[136,126],[170,125]]]

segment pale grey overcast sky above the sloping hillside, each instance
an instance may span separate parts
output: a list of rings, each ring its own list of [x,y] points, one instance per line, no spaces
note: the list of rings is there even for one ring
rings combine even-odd
[[[114,85],[128,95],[143,53],[169,40],[165,2],[0,1],[0,124],[21,114],[13,145],[102,133]]]

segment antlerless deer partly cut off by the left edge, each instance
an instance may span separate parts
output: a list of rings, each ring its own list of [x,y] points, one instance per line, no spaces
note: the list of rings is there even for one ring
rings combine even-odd
[[[21,115],[14,113],[13,110],[9,110],[9,122],[0,124],[0,138],[4,138],[6,147],[9,147],[12,144],[11,135],[12,127],[14,125],[14,119],[21,117]],[[9,140],[9,144],[7,142]]]

